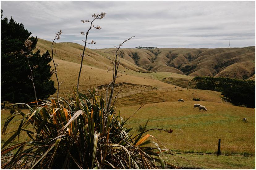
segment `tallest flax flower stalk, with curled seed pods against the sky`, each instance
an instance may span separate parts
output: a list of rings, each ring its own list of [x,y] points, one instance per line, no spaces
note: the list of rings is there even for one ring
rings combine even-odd
[[[97,26],[94,26],[92,23],[93,23],[96,19],[102,19],[102,18],[104,18],[105,15],[106,15],[106,13],[105,13],[105,12],[102,12],[102,13],[100,13],[100,14],[93,14],[93,15],[92,15],[92,18],[93,18],[92,21],[89,21],[89,20],[81,20],[81,22],[83,22],[83,23],[89,22],[89,23],[91,23],[91,25],[90,25],[89,29],[87,30],[87,32],[86,32],[85,34],[84,34],[84,32],[81,32],[82,35],[85,35],[85,41],[84,41],[85,43],[84,43],[83,54],[82,54],[82,59],[81,59],[81,65],[80,65],[80,70],[79,70],[79,75],[78,75],[78,81],[77,81],[77,88],[76,88],[76,94],[77,94],[77,95],[78,95],[79,79],[80,79],[80,74],[81,74],[81,70],[82,70],[82,66],[83,66],[83,57],[85,56],[86,45],[87,45],[87,44],[96,44],[96,42],[93,41],[93,40],[92,40],[92,42],[87,43],[87,36],[88,36],[89,31],[90,31],[91,29],[96,29],[96,30],[100,30],[100,29],[101,29],[100,26],[98,26],[98,25],[97,25]]]

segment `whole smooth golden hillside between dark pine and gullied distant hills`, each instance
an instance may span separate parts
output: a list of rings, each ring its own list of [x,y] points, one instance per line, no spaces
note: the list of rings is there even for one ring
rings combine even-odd
[[[51,52],[51,44],[52,43],[50,41],[38,39],[36,50],[39,49],[41,54],[46,50]],[[54,54],[55,62],[59,63],[57,67],[58,78],[60,82],[62,82],[60,86],[60,93],[70,93],[73,91],[73,86],[77,85],[77,77],[81,62],[80,54],[83,52],[83,46],[76,43],[61,42],[54,43],[53,50],[56,50],[56,54]],[[111,82],[112,74],[111,72],[107,72],[107,70],[108,68],[112,68],[112,64],[108,57],[114,57],[113,54],[91,49],[86,49],[86,54],[87,56],[83,60],[82,77],[79,88],[83,93],[87,93],[87,89],[90,87],[94,88],[100,85],[109,84]],[[53,62],[51,62],[50,65],[53,67]],[[123,92],[149,88],[145,86],[143,87],[143,85],[150,86],[151,88],[173,88],[180,85],[170,85],[168,84],[170,82],[161,82],[160,79],[152,76],[152,74],[155,73],[140,68],[139,66],[123,58],[121,58],[119,70],[120,75],[122,76],[117,78],[117,83],[126,82],[135,85],[133,88],[126,85],[122,87],[119,86],[119,89],[123,89]],[[184,77],[184,75],[176,74],[174,76],[175,80],[180,78],[177,75]],[[91,80],[91,86],[89,77]],[[172,74],[168,74],[168,77],[172,77]],[[58,85],[55,75],[53,75],[51,78],[55,82],[55,87],[57,87]],[[190,77],[187,79],[190,80]],[[186,83],[187,82],[185,82],[185,84]],[[118,88],[115,92],[117,93],[117,91]],[[54,94],[53,97],[56,97],[56,94]]]

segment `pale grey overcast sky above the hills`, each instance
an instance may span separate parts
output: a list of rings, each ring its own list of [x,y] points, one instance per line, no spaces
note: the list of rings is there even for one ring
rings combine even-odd
[[[1,1],[7,16],[37,36],[84,45],[94,13],[107,13],[90,30],[89,48],[220,48],[255,45],[255,1]]]

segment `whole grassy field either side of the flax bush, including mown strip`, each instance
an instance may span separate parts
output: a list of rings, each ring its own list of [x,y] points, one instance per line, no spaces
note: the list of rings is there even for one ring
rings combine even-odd
[[[193,97],[203,101],[192,101]],[[183,98],[185,102],[177,102],[177,98]],[[124,97],[118,99],[117,111],[128,118],[142,103],[146,105],[135,113],[127,126],[138,133],[139,124],[144,125],[149,119],[147,129],[173,129],[171,134],[157,130],[147,132],[177,155],[165,155],[171,163],[183,168],[255,168],[255,109],[233,106],[225,102],[219,92],[191,89],[144,92]],[[202,113],[193,109],[195,103],[206,106],[208,111]],[[21,111],[28,112],[27,109]],[[9,115],[10,109],[1,111],[1,129]],[[244,117],[247,122],[242,121]],[[15,122],[7,131],[12,132],[17,126]],[[2,135],[1,145],[10,136],[11,133]],[[221,139],[223,154],[220,156],[215,155],[218,139]],[[19,136],[19,141],[25,140],[28,140],[25,133]]]

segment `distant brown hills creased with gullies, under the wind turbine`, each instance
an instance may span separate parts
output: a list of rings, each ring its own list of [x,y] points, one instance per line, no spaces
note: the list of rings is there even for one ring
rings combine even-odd
[[[100,49],[113,54],[114,49]],[[255,46],[217,49],[123,49],[123,58],[152,72],[248,79],[255,74]]]

